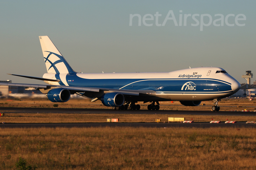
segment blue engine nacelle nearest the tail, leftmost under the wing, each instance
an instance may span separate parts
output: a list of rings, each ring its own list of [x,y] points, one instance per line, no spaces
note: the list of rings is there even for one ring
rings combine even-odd
[[[52,89],[48,92],[47,97],[52,102],[66,102],[70,99],[70,91],[63,88]]]

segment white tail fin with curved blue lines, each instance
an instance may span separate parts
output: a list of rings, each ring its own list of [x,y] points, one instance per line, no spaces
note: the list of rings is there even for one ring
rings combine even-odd
[[[76,73],[48,36],[39,36],[47,73]]]

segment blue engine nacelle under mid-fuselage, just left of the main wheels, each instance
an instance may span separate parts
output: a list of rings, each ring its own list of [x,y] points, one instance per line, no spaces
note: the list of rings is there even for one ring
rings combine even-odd
[[[105,106],[121,106],[125,102],[125,97],[124,95],[120,93],[107,93],[101,97],[101,102]]]

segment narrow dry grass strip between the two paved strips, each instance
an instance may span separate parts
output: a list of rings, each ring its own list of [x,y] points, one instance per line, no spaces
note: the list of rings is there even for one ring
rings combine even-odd
[[[194,122],[210,122],[219,120],[230,121],[256,121],[256,116],[227,116],[227,115],[166,115],[166,114],[31,114],[31,113],[7,113],[0,117],[0,122],[5,123],[96,123],[106,122],[108,118],[119,118],[119,122],[168,122],[168,117],[184,117],[185,120],[193,119]]]

